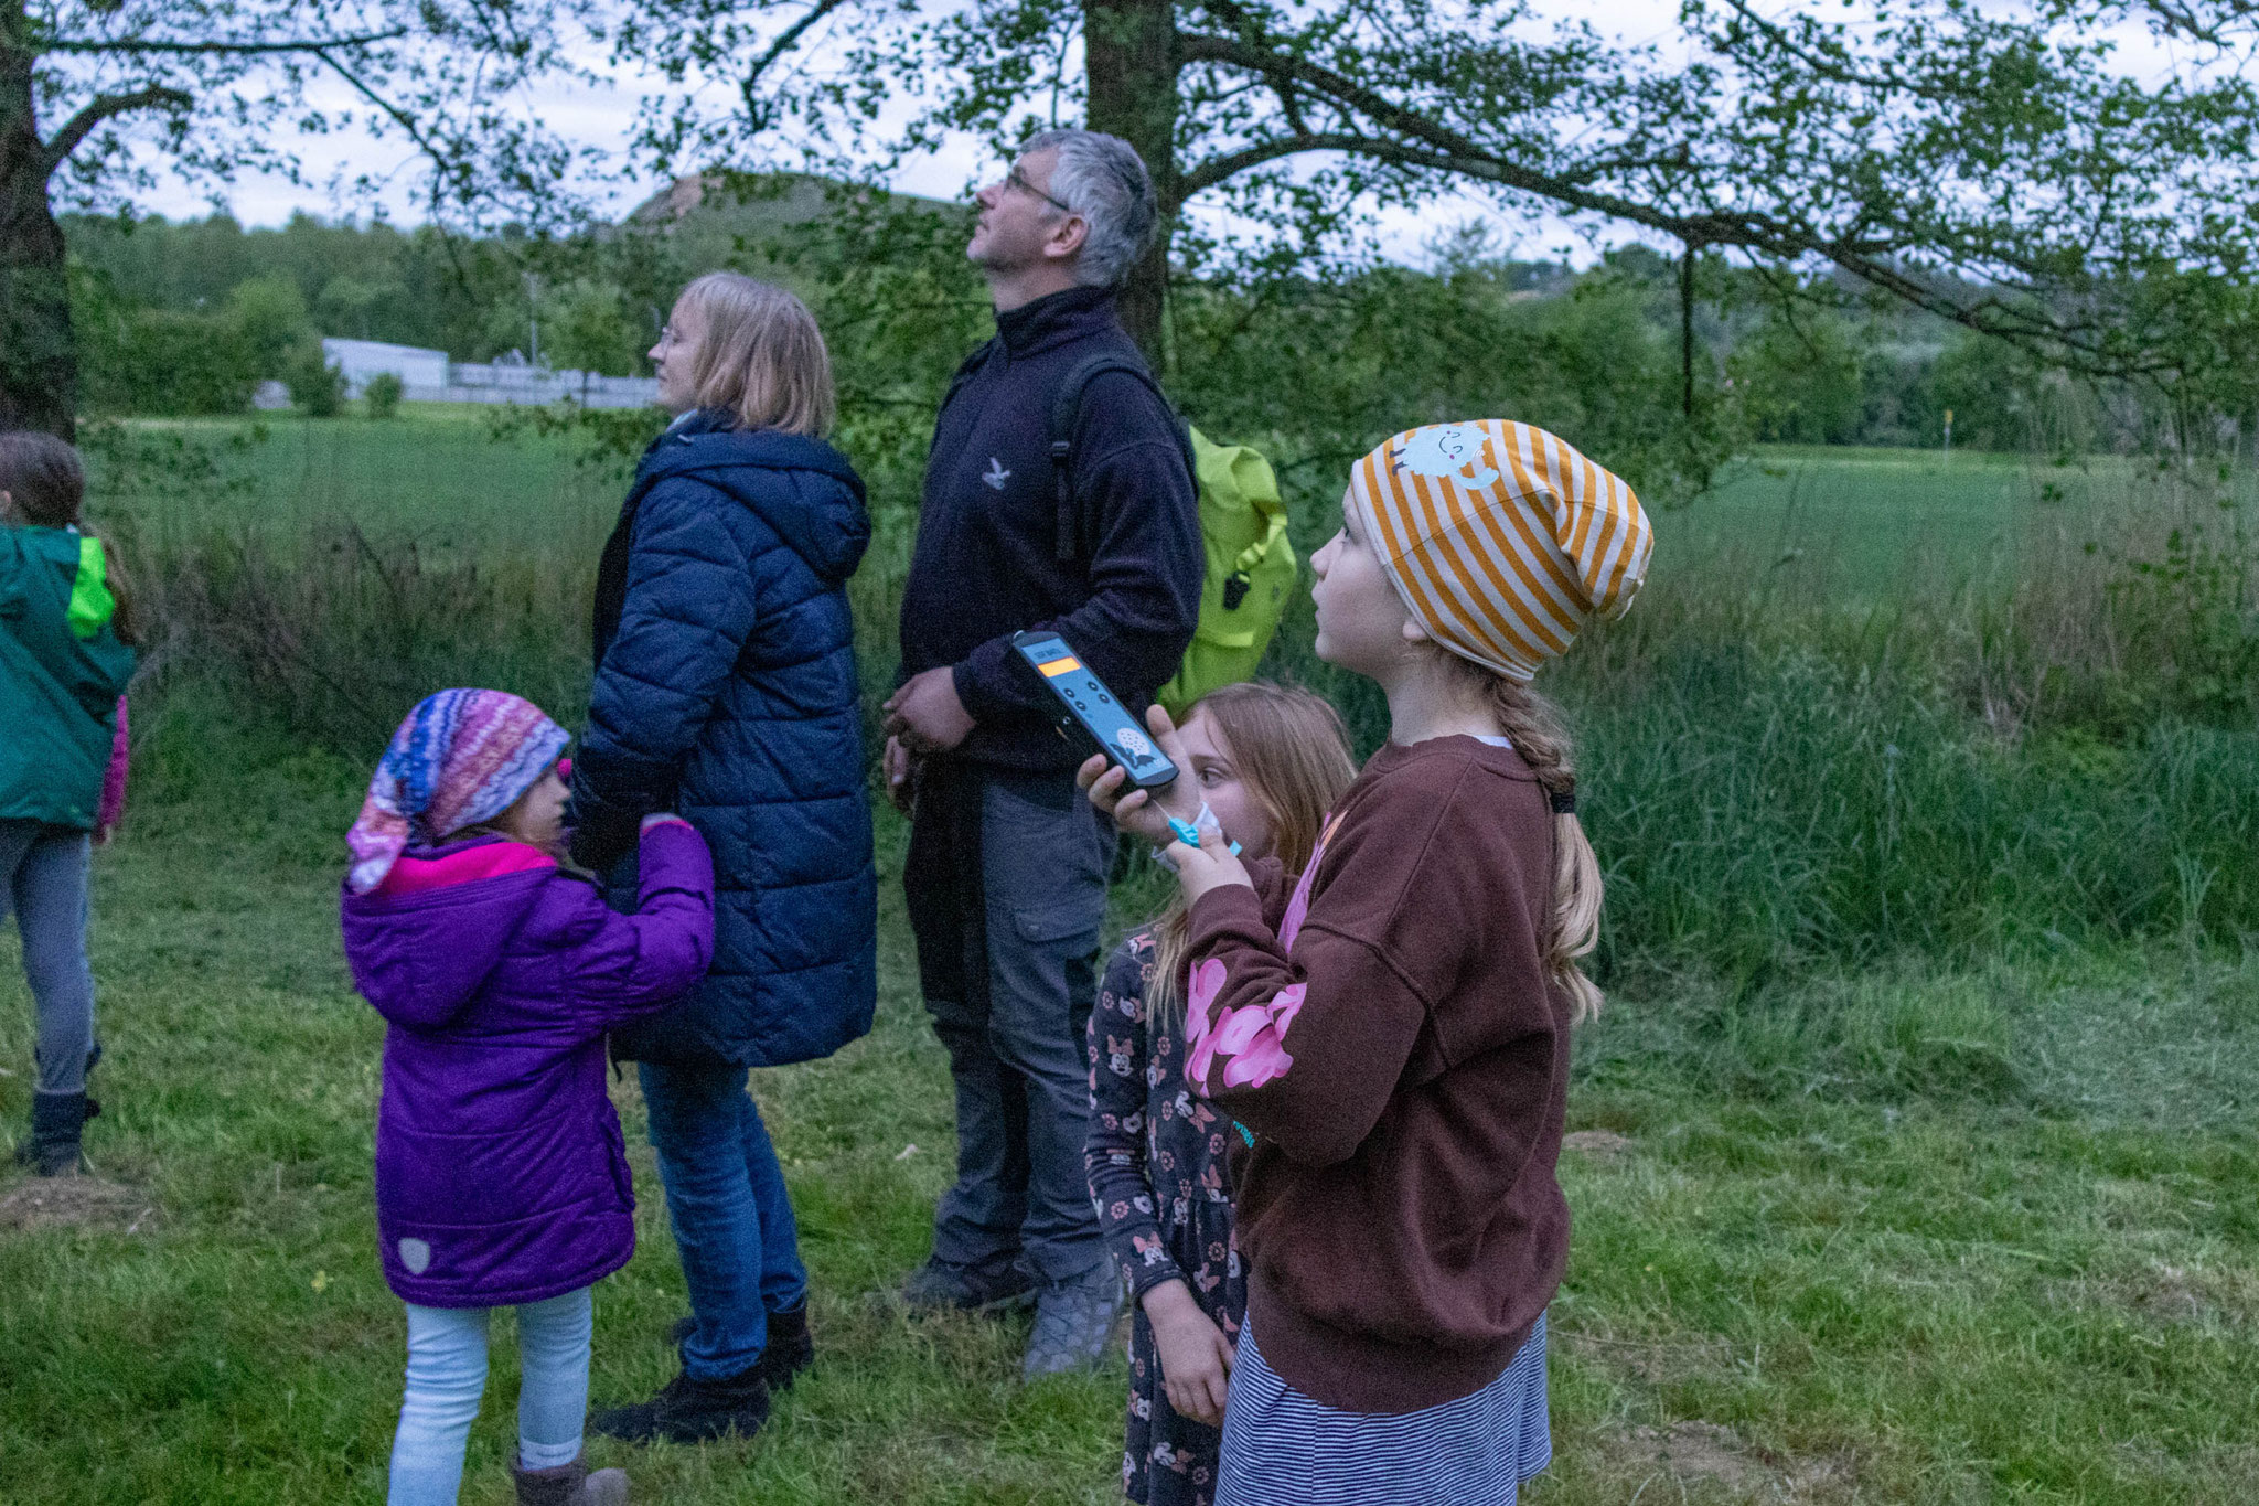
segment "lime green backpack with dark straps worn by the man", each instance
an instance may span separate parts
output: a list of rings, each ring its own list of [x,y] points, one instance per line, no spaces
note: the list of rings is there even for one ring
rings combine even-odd
[[[974,361],[965,364],[965,373]],[[1139,377],[1168,402],[1152,370],[1127,354],[1107,352],[1087,359],[1066,375],[1050,404],[1050,463],[1059,490],[1059,560],[1078,551],[1075,499],[1069,488],[1069,449],[1082,388],[1091,377],[1120,370]],[[958,384],[962,384],[960,373]],[[956,395],[958,384],[951,384]],[[949,406],[947,397],[942,406]],[[1175,406],[1170,406],[1175,411]],[[1181,422],[1181,420],[1179,420]],[[1200,544],[1209,555],[1200,583],[1200,625],[1184,650],[1177,677],[1159,689],[1154,700],[1170,716],[1222,684],[1254,680],[1263,650],[1279,632],[1279,614],[1299,578],[1294,544],[1285,535],[1285,501],[1270,461],[1245,445],[1213,445],[1200,429],[1186,427],[1186,465],[1200,488]]]

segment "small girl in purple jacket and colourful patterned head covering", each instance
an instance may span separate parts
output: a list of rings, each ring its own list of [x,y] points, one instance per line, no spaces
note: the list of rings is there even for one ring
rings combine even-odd
[[[511,1474],[526,1506],[617,1506],[587,1472],[590,1287],[635,1251],[603,1036],[664,1009],[714,953],[714,863],[642,826],[635,914],[565,851],[567,734],[501,691],[441,691],[393,734],[348,835],[346,960],[391,1023],[377,1244],[409,1310],[389,1506],[452,1506],[486,1389],[486,1321],[517,1307]]]

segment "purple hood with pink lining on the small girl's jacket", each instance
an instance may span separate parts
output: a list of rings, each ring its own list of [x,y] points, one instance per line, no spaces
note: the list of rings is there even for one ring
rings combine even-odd
[[[556,872],[556,858],[504,838],[411,847],[375,892],[346,890],[352,984],[395,1025],[445,1025],[479,996]]]

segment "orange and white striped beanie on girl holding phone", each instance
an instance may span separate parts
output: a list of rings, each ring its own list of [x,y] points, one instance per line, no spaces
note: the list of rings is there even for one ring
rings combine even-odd
[[[1398,434],[1358,461],[1349,506],[1428,637],[1516,680],[1622,616],[1656,542],[1622,476],[1502,418]]]

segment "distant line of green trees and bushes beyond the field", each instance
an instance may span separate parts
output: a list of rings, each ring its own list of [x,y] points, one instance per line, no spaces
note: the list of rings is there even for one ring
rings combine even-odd
[[[262,379],[319,386],[323,334],[463,361],[533,357],[538,345],[549,366],[633,375],[648,368],[673,287],[718,260],[752,262],[829,307],[849,384],[915,409],[924,395],[904,391],[906,373],[947,377],[978,339],[980,296],[947,224],[933,212],[897,219],[892,235],[874,235],[867,214],[843,205],[784,235],[741,210],[732,233],[732,210],[718,208],[669,235],[642,226],[572,239],[312,214],[253,230],[224,214],[63,226],[90,413],[233,413]],[[1473,226],[1439,235],[1425,260],[1258,287],[1179,278],[1172,384],[1209,422],[1340,434],[1346,449],[1414,411],[1507,404],[1649,454],[1647,470],[1674,476],[1744,440],[1938,445],[1947,411],[1954,443],[1977,449],[2144,438],[2126,427],[2126,404],[2006,341],[1895,300],[1782,300],[1721,262],[1703,269],[1692,330],[1701,422],[1690,429],[1676,262],[1633,246],[1572,273],[1504,255]],[[935,294],[951,309],[947,330],[901,316]]]

